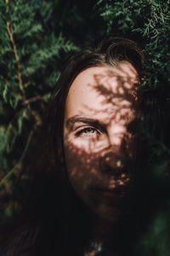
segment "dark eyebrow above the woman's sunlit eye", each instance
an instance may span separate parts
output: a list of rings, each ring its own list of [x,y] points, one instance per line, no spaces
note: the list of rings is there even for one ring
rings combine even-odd
[[[76,123],[84,123],[87,125],[93,125],[95,127],[98,127],[100,130],[105,131],[105,126],[106,124],[102,120],[98,119],[91,119],[91,118],[86,118],[82,116],[72,116],[71,118],[66,120],[66,127],[71,130],[73,129],[73,126]]]

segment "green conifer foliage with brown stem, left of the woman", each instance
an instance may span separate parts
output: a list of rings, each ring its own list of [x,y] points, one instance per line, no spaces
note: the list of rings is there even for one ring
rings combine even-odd
[[[94,30],[88,24],[99,18],[89,15],[85,20],[83,13],[92,12],[91,6],[67,1],[1,2],[1,177],[20,160],[30,130],[40,123],[65,56],[89,44],[83,38],[93,41]]]

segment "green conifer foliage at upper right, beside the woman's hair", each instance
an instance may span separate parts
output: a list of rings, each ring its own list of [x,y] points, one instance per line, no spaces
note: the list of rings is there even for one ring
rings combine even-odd
[[[144,84],[150,89],[169,81],[170,2],[155,0],[99,1],[108,32],[139,38],[150,61]]]

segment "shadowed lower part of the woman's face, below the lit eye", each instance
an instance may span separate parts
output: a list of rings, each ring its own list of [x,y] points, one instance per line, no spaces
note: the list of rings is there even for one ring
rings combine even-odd
[[[132,171],[127,158],[113,152],[105,153],[105,149],[97,153],[87,152],[74,143],[68,143],[65,148],[69,177],[77,195],[100,217],[110,219],[113,212],[114,218],[118,218],[122,200],[128,195]],[[115,195],[105,195],[107,190],[110,193],[114,189]]]

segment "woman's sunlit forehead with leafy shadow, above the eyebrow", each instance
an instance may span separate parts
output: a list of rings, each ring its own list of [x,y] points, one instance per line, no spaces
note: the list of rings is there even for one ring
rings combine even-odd
[[[138,73],[127,61],[116,67],[89,67],[77,75],[65,102],[65,116],[94,114],[101,117],[105,109],[128,108],[136,89]],[[108,113],[108,112],[107,112]]]

